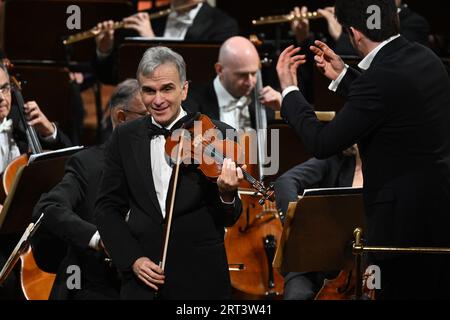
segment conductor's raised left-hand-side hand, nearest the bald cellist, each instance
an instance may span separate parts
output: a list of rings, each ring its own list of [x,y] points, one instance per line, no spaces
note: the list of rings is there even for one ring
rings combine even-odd
[[[277,63],[277,73],[281,90],[289,86],[297,86],[297,68],[306,62],[305,55],[297,55],[300,48],[289,46],[280,54]]]

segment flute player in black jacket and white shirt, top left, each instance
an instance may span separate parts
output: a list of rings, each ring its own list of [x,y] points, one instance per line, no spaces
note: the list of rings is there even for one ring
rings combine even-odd
[[[173,11],[168,16],[162,16],[150,21],[149,13],[139,12],[125,18],[129,32],[124,36],[141,36],[145,38],[163,37],[170,40],[223,42],[239,33],[235,19],[220,9],[211,7],[207,2],[198,0],[172,0],[170,8],[192,5],[183,11]],[[167,9],[167,8],[161,8]],[[159,8],[158,8],[159,10]],[[117,43],[112,29],[113,21],[104,21],[97,25],[102,31],[96,37],[97,57],[95,68],[100,80],[104,83],[117,82]]]

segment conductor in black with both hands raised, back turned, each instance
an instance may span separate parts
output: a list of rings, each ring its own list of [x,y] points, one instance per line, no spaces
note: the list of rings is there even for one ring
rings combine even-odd
[[[381,10],[369,29],[366,10]],[[357,142],[364,174],[368,245],[448,247],[450,237],[450,82],[440,59],[399,34],[394,1],[337,0],[336,17],[364,58],[363,72],[347,67],[326,44],[311,50],[330,88],[346,104],[329,123],[318,121],[298,91],[305,56],[286,48],[277,72],[282,116],[307,149],[325,158]],[[377,299],[449,298],[448,256],[372,254],[381,269]]]

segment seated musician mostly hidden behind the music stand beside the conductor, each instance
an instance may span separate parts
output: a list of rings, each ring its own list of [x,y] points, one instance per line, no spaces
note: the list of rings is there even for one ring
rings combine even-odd
[[[275,182],[275,199],[284,221],[289,202],[297,201],[305,189],[362,185],[361,158],[358,147],[354,145],[341,154],[324,160],[312,158],[285,172]],[[284,299],[314,299],[324,280],[336,276],[336,271],[289,272],[284,275]]]

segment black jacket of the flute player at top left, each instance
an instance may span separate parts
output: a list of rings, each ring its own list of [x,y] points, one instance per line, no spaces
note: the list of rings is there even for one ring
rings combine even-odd
[[[163,10],[164,8],[158,8]],[[166,8],[167,9],[167,8]],[[152,13],[150,11],[149,13]],[[156,37],[164,36],[167,16],[153,19],[152,29]],[[188,28],[183,41],[190,42],[218,42],[222,43],[228,38],[237,36],[239,27],[237,21],[220,9],[211,7],[208,3],[203,3],[198,11],[193,24]],[[101,82],[107,84],[117,84],[118,82],[118,45],[125,37],[137,37],[134,30],[123,30],[118,32],[115,40],[113,52],[103,59],[98,57],[94,60],[94,68]]]

